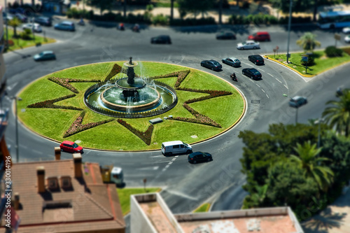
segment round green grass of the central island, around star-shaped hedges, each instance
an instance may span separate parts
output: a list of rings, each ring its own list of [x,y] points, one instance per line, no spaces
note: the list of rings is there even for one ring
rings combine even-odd
[[[116,63],[123,65],[124,62]],[[54,108],[27,108],[29,104],[63,97],[73,93],[48,80],[48,77],[55,76],[60,78],[104,80],[109,71],[111,71],[113,64],[115,64],[115,62],[76,66],[39,78],[20,93],[19,96],[22,98],[22,101],[18,101],[18,117],[29,129],[38,134],[57,141],[79,140],[81,141],[79,145],[85,148],[99,148],[105,150],[152,150],[160,149],[164,141],[182,140],[186,143],[195,143],[220,134],[225,131],[225,129],[235,124],[244,111],[244,99],[242,99],[239,92],[237,92],[230,83],[216,76],[212,76],[209,73],[197,71],[195,69],[190,69],[190,73],[185,80],[183,80],[183,83],[181,83],[181,87],[200,90],[226,90],[233,93],[228,96],[216,97],[189,104],[195,111],[207,115],[212,120],[218,122],[222,128],[176,120],[164,120],[154,125],[151,145],[148,146],[138,136],[130,132],[129,129],[120,125],[116,121],[117,118],[110,118],[105,115],[94,113],[85,106],[83,102],[84,92],[87,90],[87,87],[90,87],[93,83],[71,83],[71,85],[76,87],[79,91],[76,97],[64,99],[55,104],[83,108],[86,114],[82,124],[114,119],[112,122],[63,138],[64,132],[66,132],[74,120],[78,118],[81,111]],[[143,69],[140,70],[140,66]],[[139,64],[139,67],[137,66],[135,68],[135,72],[148,77],[189,69],[183,66],[156,62],[142,62],[142,64]],[[176,78],[161,78],[158,80],[168,83],[169,85],[174,85]],[[148,120],[153,118],[164,118],[168,115],[194,118],[186,108],[183,108],[183,102],[188,99],[207,95],[205,93],[181,90],[177,90],[176,94],[179,99],[178,104],[166,113],[151,118],[124,118],[123,120],[132,125],[132,127],[144,132],[150,125]],[[25,109],[25,111],[23,109]]]

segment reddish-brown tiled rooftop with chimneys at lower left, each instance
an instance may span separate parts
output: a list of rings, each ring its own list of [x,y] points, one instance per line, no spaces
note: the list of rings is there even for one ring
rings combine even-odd
[[[80,164],[81,178],[75,177],[74,166],[73,160],[13,164],[13,194],[20,195],[18,232],[45,232],[48,225],[55,232],[125,229],[116,185],[103,183],[99,164]],[[45,169],[45,192],[38,192],[37,167]],[[70,180],[68,188],[62,187],[62,178]],[[57,188],[49,187],[51,180]]]

